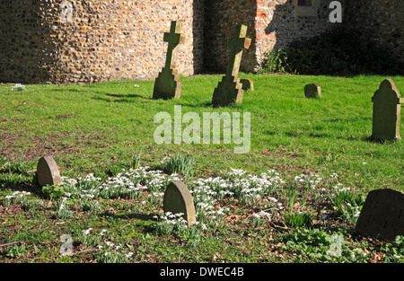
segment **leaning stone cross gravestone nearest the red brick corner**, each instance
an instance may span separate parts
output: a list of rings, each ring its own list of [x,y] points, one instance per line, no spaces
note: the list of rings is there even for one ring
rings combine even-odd
[[[240,64],[242,62],[242,51],[250,48],[251,40],[246,38],[247,26],[240,25],[234,31],[233,38],[227,42],[227,48],[230,50],[227,70],[219,82],[212,99],[212,105],[228,106],[234,102],[242,102],[242,83],[239,74]]]

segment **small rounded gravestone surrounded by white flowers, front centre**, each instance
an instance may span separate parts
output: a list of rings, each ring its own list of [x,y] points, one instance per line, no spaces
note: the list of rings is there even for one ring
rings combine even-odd
[[[164,212],[184,214],[183,218],[187,221],[188,226],[197,221],[194,200],[185,183],[180,180],[172,181],[165,189],[162,205]]]

